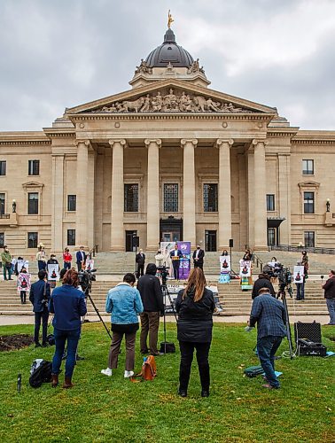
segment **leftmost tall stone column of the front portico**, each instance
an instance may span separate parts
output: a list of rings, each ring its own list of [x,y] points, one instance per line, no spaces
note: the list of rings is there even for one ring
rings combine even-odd
[[[90,141],[77,141],[77,198],[75,211],[75,244],[88,248],[87,180]]]

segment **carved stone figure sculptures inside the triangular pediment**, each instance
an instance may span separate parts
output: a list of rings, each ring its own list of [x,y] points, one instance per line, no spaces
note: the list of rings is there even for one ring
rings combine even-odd
[[[123,100],[112,105],[98,108],[94,113],[253,113],[245,109],[219,101],[216,98],[193,96],[185,91],[175,93],[169,89],[163,95],[160,91],[155,96],[146,94],[136,100]]]

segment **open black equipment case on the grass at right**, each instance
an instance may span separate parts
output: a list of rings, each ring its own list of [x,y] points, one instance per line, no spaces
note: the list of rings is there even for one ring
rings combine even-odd
[[[322,344],[320,323],[294,323],[294,341],[299,355],[324,357],[327,353]]]

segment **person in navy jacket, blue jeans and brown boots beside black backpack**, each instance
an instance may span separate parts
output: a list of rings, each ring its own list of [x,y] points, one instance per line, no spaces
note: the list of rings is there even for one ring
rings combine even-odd
[[[51,294],[49,310],[54,315],[52,320],[55,337],[55,354],[52,359],[52,387],[58,385],[58,374],[67,341],[67,358],[63,388],[71,388],[74,374],[75,355],[81,335],[81,316],[87,312],[85,297],[78,290],[78,272],[69,269],[63,277],[63,285]]]

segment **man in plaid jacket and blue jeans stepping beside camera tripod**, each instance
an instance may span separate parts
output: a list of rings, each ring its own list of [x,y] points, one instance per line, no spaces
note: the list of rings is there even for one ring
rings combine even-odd
[[[269,288],[261,288],[258,295],[253,299],[248,324],[253,327],[257,323],[257,351],[268,381],[263,387],[277,389],[279,381],[275,373],[275,354],[286,336],[286,314],[283,303],[271,296]]]

